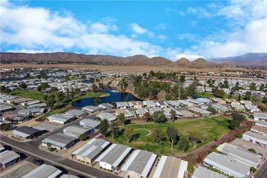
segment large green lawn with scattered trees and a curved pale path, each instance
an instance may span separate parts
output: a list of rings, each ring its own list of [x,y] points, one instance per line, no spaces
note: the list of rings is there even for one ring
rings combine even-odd
[[[211,142],[212,140],[216,140],[223,136],[228,129],[229,123],[227,122],[229,119],[224,118],[222,116],[214,116],[212,118],[203,118],[201,120],[186,120],[184,122],[177,122],[177,123],[162,123],[162,124],[147,124],[147,125],[129,125],[127,127],[132,127],[133,129],[149,129],[153,131],[155,128],[160,128],[164,133],[166,133],[166,128],[169,126],[174,126],[177,128],[179,136],[185,136],[189,140],[189,132],[190,131],[199,131],[199,133],[207,133],[207,138],[204,142],[196,144],[196,148],[201,147],[203,144],[207,142]],[[120,127],[120,132],[123,127]],[[184,153],[183,151],[179,150],[177,144],[172,150],[170,150],[170,142],[168,139],[161,141],[158,145],[155,144],[154,140],[151,136],[146,136],[149,131],[146,130],[136,130],[135,133],[137,138],[129,143],[129,147],[133,147],[136,149],[142,149],[147,151],[152,151],[154,153],[164,154],[164,155],[178,155]],[[125,136],[118,136],[112,140],[111,137],[109,139],[112,142],[118,142],[120,144],[127,145],[127,140]],[[190,140],[189,140],[190,141]],[[191,152],[194,150],[193,144],[190,142],[190,147],[186,153]]]

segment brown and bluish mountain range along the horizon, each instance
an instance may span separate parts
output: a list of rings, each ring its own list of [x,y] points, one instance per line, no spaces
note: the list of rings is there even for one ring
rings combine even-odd
[[[119,64],[127,66],[177,66],[182,68],[214,68],[222,66],[267,66],[267,53],[246,53],[235,57],[198,58],[192,62],[181,58],[172,62],[166,58],[149,58],[146,55],[117,57],[113,55],[85,55],[78,53],[0,53],[1,62],[79,62],[91,64]]]

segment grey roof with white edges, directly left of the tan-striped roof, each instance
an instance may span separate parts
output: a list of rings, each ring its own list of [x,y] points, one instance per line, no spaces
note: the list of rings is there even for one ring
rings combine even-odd
[[[133,171],[138,173],[138,175],[142,175],[142,177],[147,177],[156,158],[157,155],[154,153],[136,150],[132,153],[121,170]]]

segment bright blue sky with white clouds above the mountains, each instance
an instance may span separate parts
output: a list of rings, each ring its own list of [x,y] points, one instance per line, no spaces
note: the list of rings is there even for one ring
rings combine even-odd
[[[1,52],[223,58],[267,52],[267,1],[5,1]]]

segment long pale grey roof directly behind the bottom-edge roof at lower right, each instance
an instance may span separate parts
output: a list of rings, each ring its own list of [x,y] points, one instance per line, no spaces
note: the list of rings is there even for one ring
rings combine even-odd
[[[225,173],[235,177],[246,177],[246,175],[249,175],[251,168],[251,166],[242,164],[228,155],[221,155],[215,152],[207,155],[203,162],[206,162],[207,164],[223,170]]]

